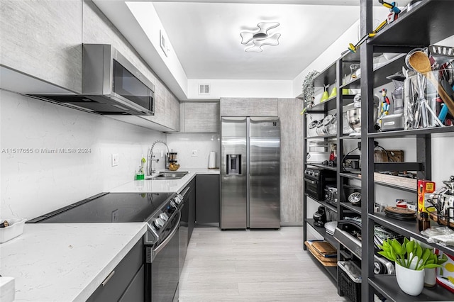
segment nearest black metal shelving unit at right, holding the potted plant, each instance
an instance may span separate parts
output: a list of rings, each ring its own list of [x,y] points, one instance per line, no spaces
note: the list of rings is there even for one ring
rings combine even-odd
[[[372,1],[360,0],[361,10],[361,33],[370,33],[372,30]],[[452,1],[423,0],[419,5],[401,16],[391,25],[381,30],[375,37],[370,38],[365,45],[360,47],[361,58],[361,95],[363,118],[361,132],[361,158],[362,158],[362,301],[373,301],[374,293],[382,294],[389,301],[454,301],[454,293],[435,286],[432,289],[425,288],[419,296],[409,296],[399,289],[395,276],[374,274],[374,242],[373,227],[375,223],[394,230],[406,237],[414,237],[422,242],[427,242],[426,237],[419,233],[416,220],[395,220],[384,216],[382,213],[374,213],[375,185],[387,186],[394,189],[409,191],[416,194],[416,188],[406,188],[394,184],[375,181],[374,172],[385,167],[378,167],[374,163],[374,140],[378,138],[402,138],[413,137],[416,139],[416,162],[405,163],[417,170],[418,178],[431,179],[431,137],[434,134],[452,135],[454,127],[427,128],[421,130],[397,130],[377,133],[373,128],[372,116],[367,113],[372,110],[373,89],[384,84],[386,75],[393,74],[404,66],[405,53],[414,47],[426,47],[432,43],[454,35],[452,18],[454,5]],[[376,52],[397,52],[392,62],[388,62],[380,70],[374,69],[372,60]],[[394,71],[396,70],[396,71]],[[451,136],[450,136],[451,137]],[[388,164],[387,164],[388,165]],[[442,247],[430,244],[443,252],[454,254],[453,247]],[[367,280],[367,281],[366,281]]]

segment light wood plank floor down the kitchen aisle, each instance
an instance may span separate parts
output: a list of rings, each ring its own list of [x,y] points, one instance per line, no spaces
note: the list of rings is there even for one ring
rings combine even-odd
[[[301,227],[195,228],[179,301],[347,301],[302,246]]]

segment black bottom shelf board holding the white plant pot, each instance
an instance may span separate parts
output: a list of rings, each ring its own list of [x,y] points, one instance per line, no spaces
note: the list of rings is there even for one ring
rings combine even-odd
[[[375,275],[368,281],[374,289],[387,298],[387,301],[454,301],[454,293],[439,285],[433,288],[425,287],[419,296],[409,296],[399,288],[395,275]]]

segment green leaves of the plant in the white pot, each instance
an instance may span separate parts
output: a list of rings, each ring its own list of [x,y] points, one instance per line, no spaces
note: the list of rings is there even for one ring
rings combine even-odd
[[[396,239],[387,239],[379,247],[381,251],[378,254],[398,263],[402,267],[415,271],[441,267],[441,264],[448,260],[446,255],[443,254],[442,257],[438,257],[438,255],[433,253],[433,249],[421,247],[418,242],[408,240],[406,237],[402,245]]]

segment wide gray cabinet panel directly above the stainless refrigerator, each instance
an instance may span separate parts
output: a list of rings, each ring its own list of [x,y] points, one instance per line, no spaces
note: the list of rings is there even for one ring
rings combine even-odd
[[[277,116],[274,98],[221,98],[221,116]]]

